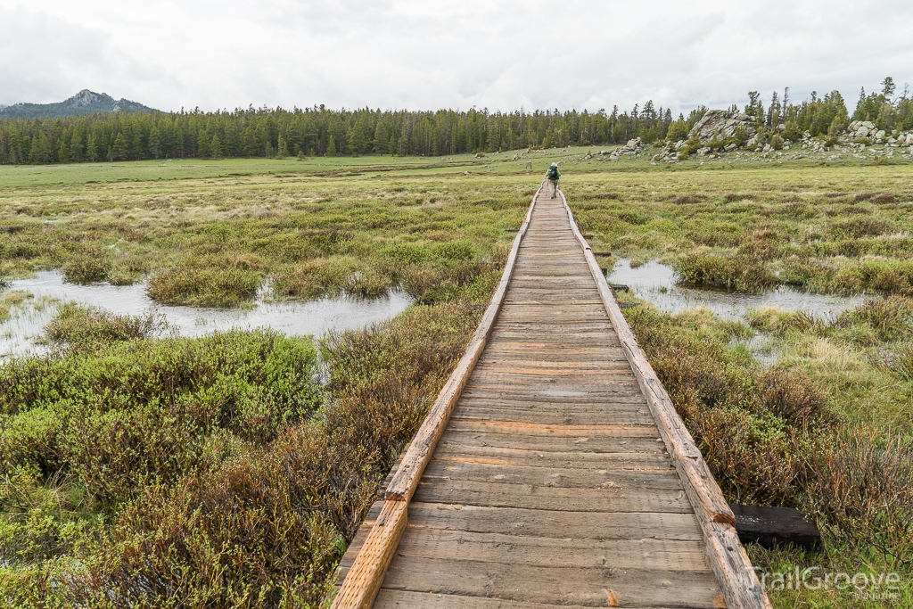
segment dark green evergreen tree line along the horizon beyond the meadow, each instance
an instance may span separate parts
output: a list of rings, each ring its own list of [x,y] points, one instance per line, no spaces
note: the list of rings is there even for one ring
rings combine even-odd
[[[908,89],[896,95],[894,80],[878,93],[862,90],[853,119],[873,121],[886,131],[913,129]],[[0,119],[0,164],[131,161],[164,158],[285,157],[299,155],[446,155],[519,148],[686,139],[706,108],[673,120],[671,110],[643,108],[536,110],[527,113],[488,110],[328,110],[254,109],[233,112],[146,112],[94,114],[64,119]],[[736,106],[730,110],[738,111]],[[843,96],[794,104],[789,89],[774,91],[764,107],[749,92],[744,113],[758,127],[784,124],[786,137],[811,131],[815,136],[845,131],[851,121]],[[792,133],[795,131],[795,133]]]

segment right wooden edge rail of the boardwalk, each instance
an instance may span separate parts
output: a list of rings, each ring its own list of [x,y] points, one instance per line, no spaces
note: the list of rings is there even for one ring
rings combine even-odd
[[[656,419],[660,436],[666,443],[666,450],[676,466],[688,499],[698,517],[704,539],[707,541],[707,553],[710,567],[717,576],[719,587],[723,591],[723,600],[728,609],[771,609],[771,602],[764,593],[761,581],[751,565],[751,561],[739,541],[735,529],[735,515],[723,498],[717,481],[707,467],[707,462],[688,433],[684,422],[676,412],[676,407],[660,383],[653,366],[637,344],[634,332],[622,315],[621,308],[615,302],[612,289],[603,276],[603,271],[593,256],[593,250],[582,236],[577,223],[574,222],[571,206],[564,193],[561,201],[567,211],[571,228],[583,248],[587,265],[596,281],[599,295],[605,310],[612,321],[618,339],[622,343],[624,354],[631,363],[644,392],[647,404]]]

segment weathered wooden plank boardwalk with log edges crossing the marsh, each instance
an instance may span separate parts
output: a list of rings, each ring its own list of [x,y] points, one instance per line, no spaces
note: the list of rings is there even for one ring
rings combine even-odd
[[[562,195],[388,481],[333,607],[770,606]]]

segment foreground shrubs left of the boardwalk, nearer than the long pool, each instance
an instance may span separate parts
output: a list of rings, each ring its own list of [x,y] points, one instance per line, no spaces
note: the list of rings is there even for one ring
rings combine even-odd
[[[310,341],[268,332],[7,364],[0,530],[16,568],[0,593],[316,606],[480,314],[419,306],[331,333],[323,388]]]

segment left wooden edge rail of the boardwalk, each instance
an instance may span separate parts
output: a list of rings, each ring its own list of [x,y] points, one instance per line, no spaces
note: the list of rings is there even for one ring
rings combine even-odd
[[[520,241],[530,226],[532,210],[536,206],[536,197],[541,191],[542,186],[532,195],[532,202],[523,219],[523,225],[517,231],[513,246],[510,248],[498,289],[491,297],[488,309],[485,310],[485,315],[479,322],[466,352],[450,378],[447,379],[441,393],[437,395],[435,404],[425,417],[425,422],[419,427],[406,449],[400,466],[387,486],[383,497],[383,509],[368,533],[362,550],[352,562],[352,568],[342,582],[339,593],[333,599],[331,609],[368,609],[373,605],[377,593],[380,592],[383,576],[387,572],[387,567],[390,566],[396,546],[405,530],[409,500],[412,499],[415,488],[418,487],[425,466],[435,451],[437,440],[444,433],[450,414],[453,412],[460,394],[463,393],[463,388],[476,367],[478,358],[485,350],[495,320],[498,319],[498,312],[501,310],[504,295],[507,293],[517,262]]]

